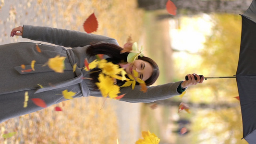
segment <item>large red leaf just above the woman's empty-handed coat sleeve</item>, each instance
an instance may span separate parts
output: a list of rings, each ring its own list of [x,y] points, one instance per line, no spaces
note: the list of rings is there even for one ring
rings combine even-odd
[[[98,21],[97,18],[95,17],[95,14],[92,13],[86,20],[84,23],[84,29],[86,33],[92,33],[97,31],[98,28]]]

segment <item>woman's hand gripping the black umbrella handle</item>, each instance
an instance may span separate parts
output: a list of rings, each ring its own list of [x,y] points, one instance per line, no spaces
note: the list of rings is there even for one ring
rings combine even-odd
[[[195,80],[194,75],[195,75],[195,77],[197,78],[197,80]],[[193,73],[193,74],[188,74],[187,77],[188,77],[188,80],[184,81],[184,82],[181,84],[181,86],[182,86],[183,88],[186,88],[186,87],[189,87],[189,86],[195,85],[195,84],[201,84],[201,83],[204,82],[204,76],[202,76],[202,77],[200,78],[200,76],[197,75],[197,74],[195,74],[195,73]]]

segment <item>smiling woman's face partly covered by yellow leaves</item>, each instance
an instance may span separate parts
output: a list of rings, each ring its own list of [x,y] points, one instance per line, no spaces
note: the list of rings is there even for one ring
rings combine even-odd
[[[125,72],[127,74],[133,74],[133,70],[139,73],[138,77],[143,81],[146,81],[153,73],[153,67],[144,60],[134,60],[134,63],[126,67]]]

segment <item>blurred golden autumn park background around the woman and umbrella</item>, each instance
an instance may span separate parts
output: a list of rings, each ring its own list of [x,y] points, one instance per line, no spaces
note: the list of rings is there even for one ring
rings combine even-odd
[[[29,41],[10,37],[23,25],[83,30],[95,13],[94,34],[132,36],[160,68],[156,84],[184,80],[188,73],[233,76],[236,73],[241,16],[252,0],[0,0],[0,44]],[[0,124],[1,144],[134,144],[149,130],[159,144],[247,144],[235,79],[208,79],[183,97],[150,104],[83,97]],[[178,112],[181,102],[190,112]],[[157,107],[157,108],[156,108]],[[16,132],[10,138],[2,134]]]

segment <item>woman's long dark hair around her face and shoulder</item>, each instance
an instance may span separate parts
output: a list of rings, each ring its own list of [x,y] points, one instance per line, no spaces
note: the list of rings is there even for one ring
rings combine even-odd
[[[91,45],[90,47],[87,48],[86,53],[89,56],[95,56],[97,54],[105,54],[111,58],[111,61],[126,62],[129,52],[124,52],[121,54],[120,53],[121,50],[122,50],[122,48],[115,44],[102,43],[102,44]],[[148,57],[140,57],[139,56],[138,59],[147,61],[153,67],[153,73],[145,81],[145,83],[146,83],[146,85],[154,84],[159,76],[159,69],[158,69],[157,63]],[[99,73],[97,73],[97,72],[90,74],[91,78],[93,78],[93,81],[95,81],[95,82],[98,81],[98,74]],[[118,81],[118,83],[119,83],[119,81]]]

